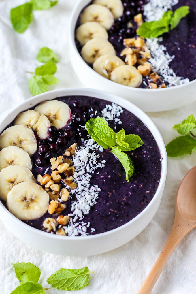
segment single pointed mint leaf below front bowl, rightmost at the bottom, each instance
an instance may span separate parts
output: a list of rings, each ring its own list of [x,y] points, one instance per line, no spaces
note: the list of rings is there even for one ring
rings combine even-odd
[[[78,270],[61,268],[47,282],[58,290],[80,290],[89,285],[91,273],[94,272],[90,272],[86,266]]]

